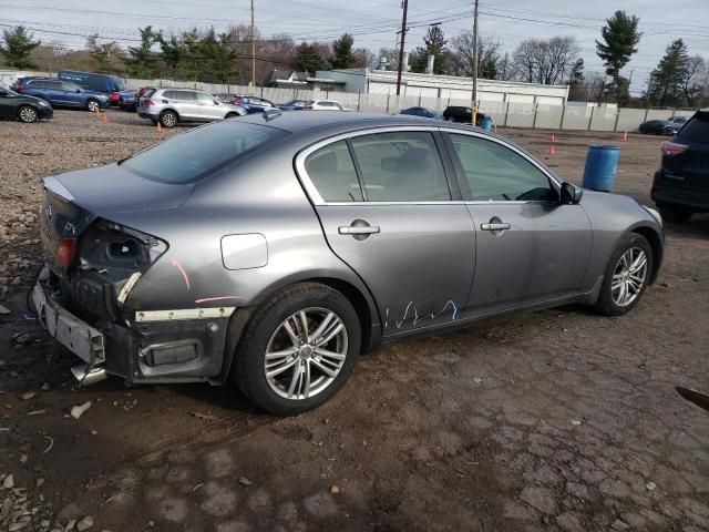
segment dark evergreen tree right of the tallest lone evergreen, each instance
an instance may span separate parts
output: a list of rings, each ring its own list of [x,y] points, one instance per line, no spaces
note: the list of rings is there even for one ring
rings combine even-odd
[[[682,84],[688,68],[687,44],[681,39],[676,39],[667,47],[665,57],[650,74],[650,102],[660,108],[681,104]]]

